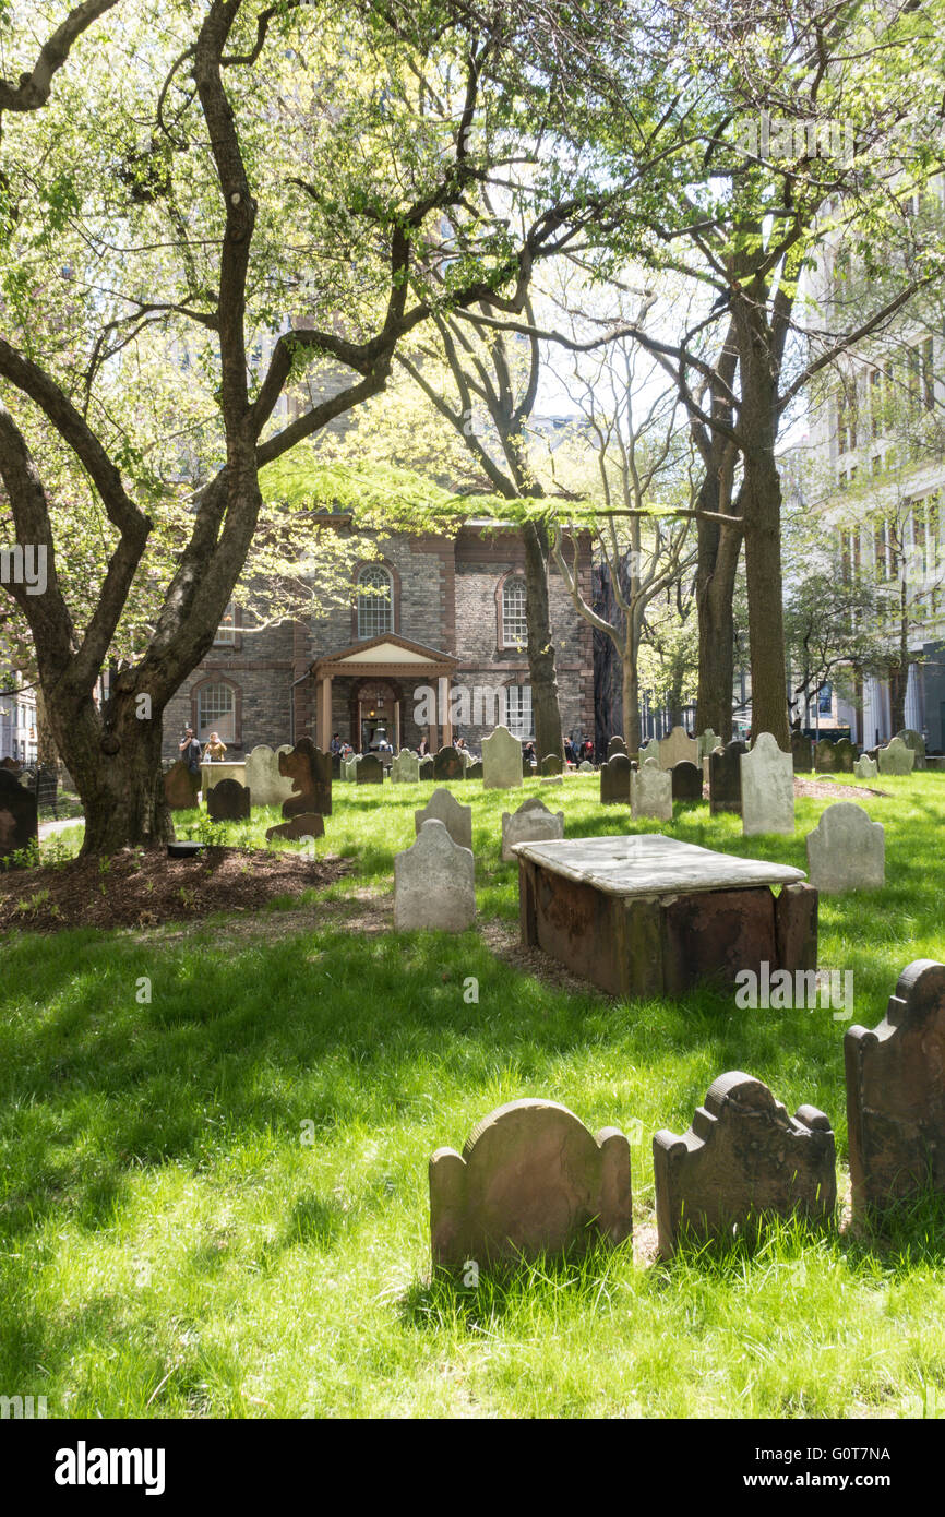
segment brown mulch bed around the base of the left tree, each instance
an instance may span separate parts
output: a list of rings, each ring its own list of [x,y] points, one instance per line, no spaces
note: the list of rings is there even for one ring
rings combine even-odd
[[[0,872],[0,931],[159,927],[212,912],[253,912],[278,895],[332,884],[350,868],[347,859],[265,848],[208,848],[197,859],[123,848],[109,860]]]

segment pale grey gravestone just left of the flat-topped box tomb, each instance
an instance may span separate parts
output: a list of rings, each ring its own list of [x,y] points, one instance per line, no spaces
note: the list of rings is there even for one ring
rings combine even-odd
[[[413,848],[394,856],[394,931],[464,933],[476,915],[475,863],[443,822],[423,822]]]

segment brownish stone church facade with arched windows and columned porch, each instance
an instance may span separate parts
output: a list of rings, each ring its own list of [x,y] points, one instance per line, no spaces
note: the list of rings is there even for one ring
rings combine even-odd
[[[325,517],[325,525],[331,517]],[[337,517],[334,525],[337,525]],[[218,731],[235,760],[258,743],[334,733],[356,752],[381,737],[416,749],[481,739],[504,721],[534,736],[525,652],[523,545],[516,528],[470,522],[452,539],[397,534],[353,566],[352,590],[305,622],[253,631],[240,605],[164,718],[164,757],[185,727]],[[590,601],[590,539],[579,542]],[[564,734],[593,737],[592,628],[558,572],[549,573]]]

